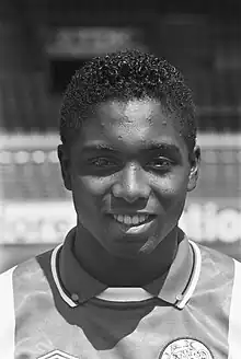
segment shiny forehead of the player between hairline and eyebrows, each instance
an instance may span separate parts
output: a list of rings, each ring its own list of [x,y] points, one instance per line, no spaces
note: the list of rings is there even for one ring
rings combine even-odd
[[[168,113],[159,101],[108,101],[88,114],[80,142],[84,147],[91,141],[103,141],[123,147],[123,150],[138,150],[153,141],[185,148],[177,116]]]

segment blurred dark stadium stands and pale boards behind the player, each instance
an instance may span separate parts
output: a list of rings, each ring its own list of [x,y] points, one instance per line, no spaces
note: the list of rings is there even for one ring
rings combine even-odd
[[[238,1],[0,1],[0,271],[74,224],[56,154],[61,94],[92,56],[126,47],[184,72],[203,161],[180,224],[241,260],[240,14]]]

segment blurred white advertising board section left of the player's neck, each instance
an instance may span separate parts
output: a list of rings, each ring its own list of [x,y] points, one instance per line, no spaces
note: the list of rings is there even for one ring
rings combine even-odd
[[[71,201],[4,202],[1,244],[58,243],[76,223]]]

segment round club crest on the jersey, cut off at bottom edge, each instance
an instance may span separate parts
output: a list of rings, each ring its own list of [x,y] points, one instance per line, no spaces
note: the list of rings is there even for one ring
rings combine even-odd
[[[210,350],[199,340],[180,338],[169,343],[159,359],[213,359]]]

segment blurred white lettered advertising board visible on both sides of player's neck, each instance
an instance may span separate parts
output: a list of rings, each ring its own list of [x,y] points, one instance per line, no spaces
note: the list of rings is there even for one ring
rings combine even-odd
[[[237,198],[187,199],[180,227],[198,243],[241,260],[241,207]],[[5,202],[1,243],[59,243],[76,224],[71,201]]]

